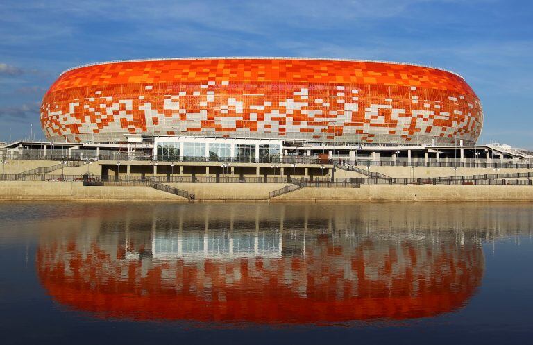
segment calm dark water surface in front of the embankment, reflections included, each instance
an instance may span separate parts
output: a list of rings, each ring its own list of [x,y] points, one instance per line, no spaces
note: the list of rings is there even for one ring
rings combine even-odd
[[[532,344],[533,205],[0,204],[2,344]]]

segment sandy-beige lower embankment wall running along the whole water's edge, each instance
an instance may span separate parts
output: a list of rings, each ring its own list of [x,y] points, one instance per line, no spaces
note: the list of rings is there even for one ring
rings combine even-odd
[[[532,186],[505,185],[361,185],[360,188],[306,187],[273,199],[283,183],[168,183],[194,194],[196,201],[533,201]],[[187,199],[149,186],[83,186],[81,182],[4,181],[0,201],[170,201]]]

